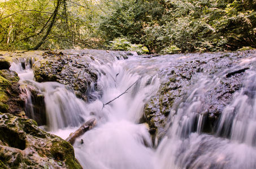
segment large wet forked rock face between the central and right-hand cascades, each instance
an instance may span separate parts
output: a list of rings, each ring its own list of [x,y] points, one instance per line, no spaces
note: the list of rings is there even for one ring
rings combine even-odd
[[[184,61],[170,63],[170,68],[162,70],[168,79],[162,83],[158,94],[145,105],[145,117],[149,123],[150,133],[161,137],[166,132],[166,125],[171,124],[171,116],[175,115],[180,103],[184,102],[197,87],[198,78],[206,78],[212,84],[203,88],[202,96],[206,122],[202,131],[212,133],[218,117],[225,106],[231,103],[233,95],[242,87],[245,70],[248,65],[240,65],[242,59],[256,57],[256,51],[188,54]],[[178,57],[180,55],[177,55]],[[171,114],[171,115],[170,115]]]

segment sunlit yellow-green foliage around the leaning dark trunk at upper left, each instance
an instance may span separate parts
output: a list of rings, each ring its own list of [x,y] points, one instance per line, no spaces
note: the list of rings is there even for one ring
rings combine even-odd
[[[56,1],[0,1],[0,49],[28,50],[46,34]],[[94,0],[60,0],[57,19],[41,49],[85,47],[93,37],[96,16]]]

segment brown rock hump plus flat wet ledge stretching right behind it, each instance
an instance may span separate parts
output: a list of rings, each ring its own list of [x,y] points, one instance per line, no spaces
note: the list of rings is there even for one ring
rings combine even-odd
[[[95,100],[95,94],[91,94],[97,90],[98,77],[90,64],[127,59],[128,54],[129,52],[125,51],[105,50],[45,52],[33,65],[34,78],[37,82],[54,81],[67,84],[77,97],[85,101]]]

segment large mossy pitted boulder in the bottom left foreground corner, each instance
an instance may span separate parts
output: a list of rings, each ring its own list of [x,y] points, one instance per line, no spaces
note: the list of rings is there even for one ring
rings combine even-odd
[[[1,168],[82,168],[71,144],[37,127],[32,119],[0,113]]]

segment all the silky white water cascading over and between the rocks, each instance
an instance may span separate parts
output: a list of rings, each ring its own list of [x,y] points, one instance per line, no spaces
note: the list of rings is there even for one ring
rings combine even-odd
[[[207,91],[236,68],[219,70],[211,76],[198,73],[176,111],[169,115],[167,134],[153,145],[147,124],[141,123],[144,105],[168,78],[170,63],[185,63],[193,59],[189,57],[136,56],[109,59],[105,64],[94,61],[90,64],[98,73],[98,90],[97,99],[90,103],[77,99],[63,84],[33,81],[31,66],[16,62],[11,69],[18,72],[21,83],[29,81],[44,94],[45,130],[66,139],[86,120],[97,119],[96,127],[73,145],[84,168],[256,168],[256,57],[239,61],[238,66],[250,69],[245,72],[242,89],[222,112],[215,134],[202,133]],[[28,91],[28,105],[29,101]]]

